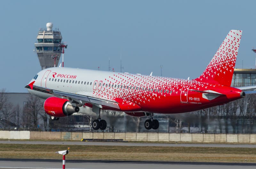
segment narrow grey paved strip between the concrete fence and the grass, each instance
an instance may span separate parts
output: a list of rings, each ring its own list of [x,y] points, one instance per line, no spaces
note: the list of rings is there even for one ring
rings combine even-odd
[[[120,143],[120,142],[81,142],[81,141],[0,141],[5,144],[54,144],[54,145],[108,145],[108,146],[162,146],[162,147],[230,147],[256,148],[256,144],[184,144],[184,143]]]

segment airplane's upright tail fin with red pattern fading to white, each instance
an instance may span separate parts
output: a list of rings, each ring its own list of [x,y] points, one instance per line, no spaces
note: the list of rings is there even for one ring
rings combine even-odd
[[[242,31],[231,30],[204,73],[194,80],[230,86],[241,36]]]

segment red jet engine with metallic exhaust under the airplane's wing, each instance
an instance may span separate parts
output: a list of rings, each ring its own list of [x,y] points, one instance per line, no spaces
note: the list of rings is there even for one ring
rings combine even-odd
[[[44,111],[53,117],[65,117],[78,112],[79,107],[71,105],[68,99],[50,97],[44,101]]]

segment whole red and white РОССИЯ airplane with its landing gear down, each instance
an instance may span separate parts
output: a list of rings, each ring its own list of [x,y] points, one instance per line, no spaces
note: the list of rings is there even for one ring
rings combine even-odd
[[[245,97],[242,88],[230,87],[241,35],[242,31],[231,30],[203,74],[194,80],[53,67],[38,72],[26,88],[46,99],[44,110],[53,120],[86,113],[83,107],[87,106],[99,115],[92,122],[95,130],[107,126],[100,119],[101,109],[149,116],[145,128],[158,129],[154,113],[192,112]]]

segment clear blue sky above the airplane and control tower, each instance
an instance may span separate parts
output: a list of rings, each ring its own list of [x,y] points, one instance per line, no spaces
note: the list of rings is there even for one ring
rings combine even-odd
[[[231,29],[243,30],[237,68],[255,67],[256,1],[1,1],[0,89],[27,92],[41,70],[39,28],[59,28],[65,66],[179,78],[204,71]]]

